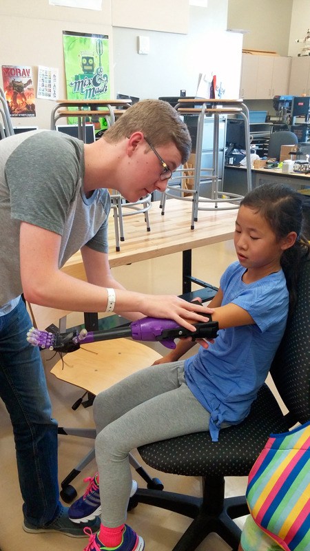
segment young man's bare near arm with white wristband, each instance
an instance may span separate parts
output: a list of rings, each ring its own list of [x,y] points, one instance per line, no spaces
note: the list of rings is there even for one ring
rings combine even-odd
[[[21,283],[28,302],[78,312],[105,311],[106,289],[72,278],[59,269],[58,233],[21,222],[19,242]],[[193,323],[207,321],[201,306],[176,295],[147,295],[119,288],[115,311],[172,319],[189,331],[194,331]]]

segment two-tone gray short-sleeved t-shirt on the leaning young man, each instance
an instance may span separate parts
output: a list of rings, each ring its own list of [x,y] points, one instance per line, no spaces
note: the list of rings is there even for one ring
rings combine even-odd
[[[84,144],[39,130],[0,141],[0,309],[22,293],[21,221],[61,236],[59,267],[83,245],[107,253],[110,194],[83,191]]]

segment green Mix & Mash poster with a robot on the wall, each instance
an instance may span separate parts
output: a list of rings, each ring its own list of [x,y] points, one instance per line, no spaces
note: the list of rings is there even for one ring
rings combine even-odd
[[[104,34],[63,31],[65,80],[68,99],[110,98],[109,40]],[[76,123],[70,117],[69,123]],[[96,136],[107,128],[105,118],[92,116]]]

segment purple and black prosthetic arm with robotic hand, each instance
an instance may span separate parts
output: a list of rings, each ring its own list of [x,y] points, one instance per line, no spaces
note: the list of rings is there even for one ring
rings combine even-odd
[[[208,314],[209,321],[194,324],[196,331],[189,331],[185,327],[179,326],[173,320],[162,320],[160,318],[142,318],[132,322],[125,327],[116,327],[107,331],[90,331],[82,329],[71,331],[69,333],[48,333],[38,329],[30,329],[27,333],[27,340],[33,346],[39,346],[41,349],[50,349],[59,352],[73,352],[80,348],[81,343],[96,342],[100,340],[119,339],[121,337],[132,337],[134,340],[141,341],[160,341],[168,349],[175,349],[175,338],[192,337],[196,339],[212,339],[217,337],[218,322],[213,322],[211,315]]]

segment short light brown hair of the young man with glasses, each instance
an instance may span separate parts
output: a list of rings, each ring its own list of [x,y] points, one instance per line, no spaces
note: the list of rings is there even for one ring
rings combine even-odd
[[[103,137],[109,143],[116,143],[123,138],[129,138],[133,132],[143,132],[154,147],[173,142],[181,154],[182,164],[189,158],[192,141],[187,126],[167,101],[138,101],[114,125],[105,130]]]

